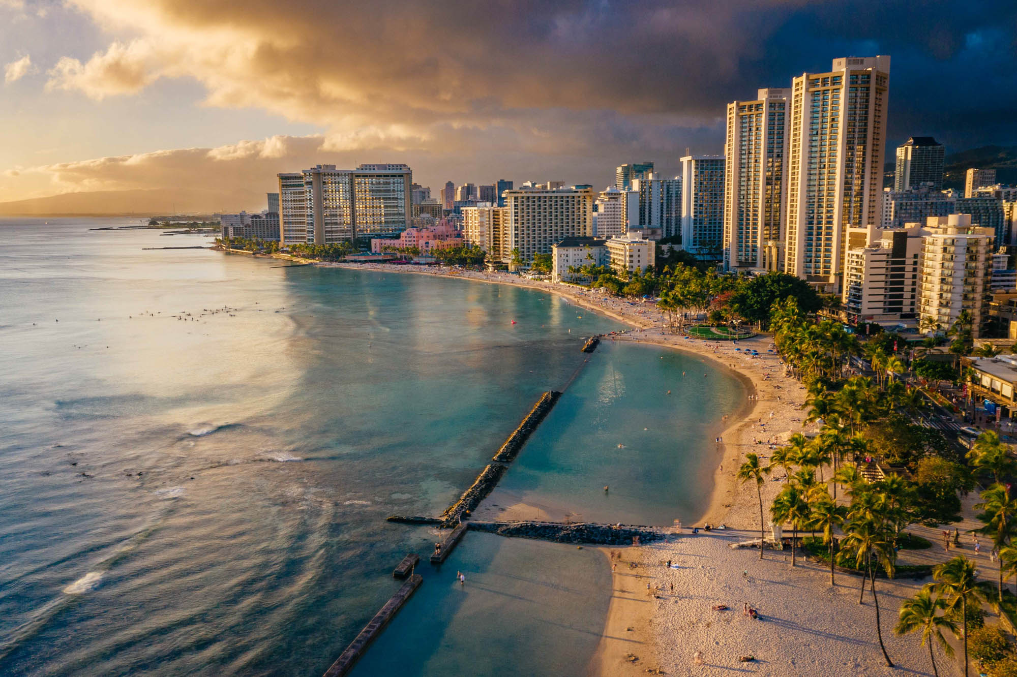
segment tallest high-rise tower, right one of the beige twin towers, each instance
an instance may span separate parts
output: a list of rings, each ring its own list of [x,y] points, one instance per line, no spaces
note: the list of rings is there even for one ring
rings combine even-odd
[[[839,289],[847,229],[880,223],[890,57],[791,83],[784,270]]]

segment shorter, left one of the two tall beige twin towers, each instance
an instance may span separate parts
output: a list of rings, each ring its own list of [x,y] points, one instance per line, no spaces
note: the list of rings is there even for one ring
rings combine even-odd
[[[760,89],[727,105],[724,265],[782,270],[790,89]]]

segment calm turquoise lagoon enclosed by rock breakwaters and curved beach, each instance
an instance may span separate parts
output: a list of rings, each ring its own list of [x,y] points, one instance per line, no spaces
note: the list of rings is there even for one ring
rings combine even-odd
[[[695,355],[604,341],[498,488],[576,520],[692,524],[723,460],[719,419],[744,396]]]

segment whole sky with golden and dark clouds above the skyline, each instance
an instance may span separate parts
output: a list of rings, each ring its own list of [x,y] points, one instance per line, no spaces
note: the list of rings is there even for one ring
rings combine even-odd
[[[890,148],[1017,145],[1013,0],[0,0],[0,202],[260,209],[320,163],[434,193],[673,175],[723,152],[728,102],[875,54]]]

